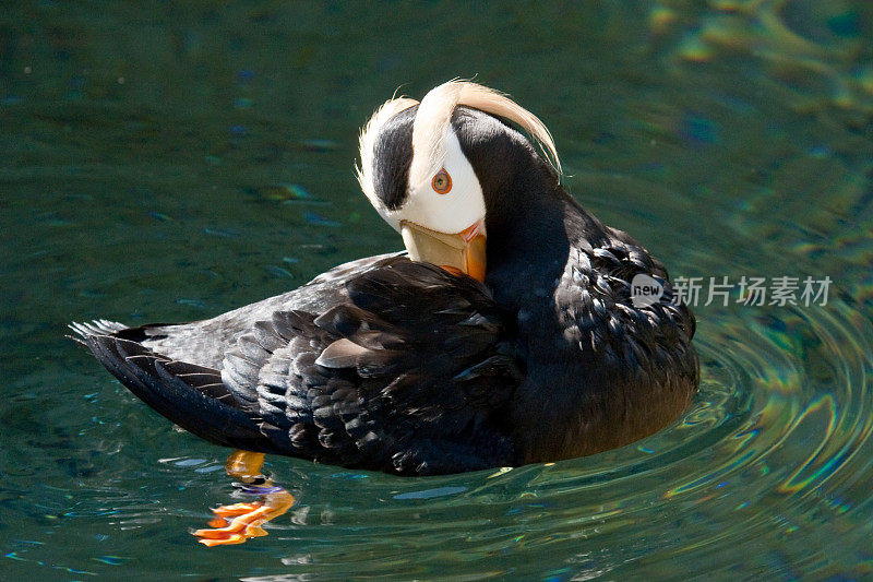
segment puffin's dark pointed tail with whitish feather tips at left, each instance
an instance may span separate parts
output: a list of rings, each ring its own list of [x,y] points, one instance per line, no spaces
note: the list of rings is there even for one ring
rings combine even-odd
[[[156,354],[136,340],[136,329],[106,320],[71,323],[79,337],[112,376],[156,412],[215,444],[271,452],[261,431],[258,404],[242,401],[222,372]]]

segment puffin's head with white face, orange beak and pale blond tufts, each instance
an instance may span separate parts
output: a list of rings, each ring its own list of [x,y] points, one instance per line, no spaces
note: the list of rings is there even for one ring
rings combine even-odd
[[[550,162],[498,118],[517,123]],[[421,103],[386,102],[360,135],[358,181],[410,259],[478,281],[486,276],[486,216],[507,205],[519,168],[558,183],[549,130],[505,95],[466,81],[443,83]]]

